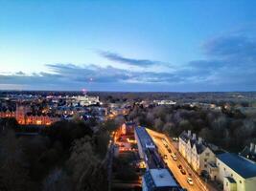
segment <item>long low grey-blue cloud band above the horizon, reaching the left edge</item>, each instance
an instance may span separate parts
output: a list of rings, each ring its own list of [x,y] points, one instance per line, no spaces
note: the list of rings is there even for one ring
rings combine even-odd
[[[90,86],[94,90],[100,90],[105,86],[118,86],[125,88],[128,84],[167,84],[176,81],[174,74],[134,72],[118,69],[112,66],[100,67],[97,65],[77,66],[74,64],[47,64],[49,73],[36,74],[0,74],[1,84],[24,85],[30,89],[59,88],[78,90],[81,87]],[[6,87],[6,85],[5,85]],[[1,88],[1,86],[0,86]]]

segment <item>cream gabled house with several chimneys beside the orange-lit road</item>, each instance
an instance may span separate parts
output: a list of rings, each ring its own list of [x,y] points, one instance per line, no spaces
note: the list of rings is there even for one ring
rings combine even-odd
[[[216,156],[209,146],[202,138],[197,138],[196,134],[192,135],[190,130],[179,136],[178,151],[198,174],[207,171],[209,163],[216,161]]]

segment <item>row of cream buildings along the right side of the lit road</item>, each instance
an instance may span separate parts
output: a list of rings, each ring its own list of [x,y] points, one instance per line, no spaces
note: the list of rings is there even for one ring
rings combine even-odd
[[[256,164],[252,160],[220,153],[191,131],[179,136],[178,150],[199,175],[206,173],[211,180],[220,181],[224,191],[255,191]]]

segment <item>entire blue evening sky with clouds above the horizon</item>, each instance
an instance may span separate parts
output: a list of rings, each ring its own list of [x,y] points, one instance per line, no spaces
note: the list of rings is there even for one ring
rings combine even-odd
[[[0,0],[0,89],[255,91],[256,2]]]

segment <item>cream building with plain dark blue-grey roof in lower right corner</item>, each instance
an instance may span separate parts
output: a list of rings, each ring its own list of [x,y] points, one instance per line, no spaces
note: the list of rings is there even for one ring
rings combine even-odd
[[[256,164],[236,154],[217,155],[218,180],[224,191],[255,191]]]

